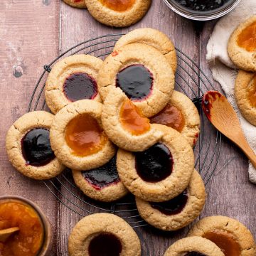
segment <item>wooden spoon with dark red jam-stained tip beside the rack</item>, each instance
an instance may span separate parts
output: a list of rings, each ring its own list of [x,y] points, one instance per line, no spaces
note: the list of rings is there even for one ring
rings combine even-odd
[[[213,126],[237,144],[256,168],[256,155],[245,139],[238,116],[227,98],[220,92],[209,91],[203,95],[202,106],[203,112]]]

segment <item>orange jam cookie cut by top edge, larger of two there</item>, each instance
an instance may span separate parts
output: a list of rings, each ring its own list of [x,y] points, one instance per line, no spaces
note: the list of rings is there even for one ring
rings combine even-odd
[[[151,0],[85,0],[90,14],[107,26],[126,27],[141,20]]]

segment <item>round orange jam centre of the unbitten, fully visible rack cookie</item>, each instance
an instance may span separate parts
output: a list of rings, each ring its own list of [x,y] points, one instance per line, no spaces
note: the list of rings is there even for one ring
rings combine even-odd
[[[88,156],[102,149],[107,136],[94,117],[80,114],[73,118],[65,128],[65,141],[73,154]]]

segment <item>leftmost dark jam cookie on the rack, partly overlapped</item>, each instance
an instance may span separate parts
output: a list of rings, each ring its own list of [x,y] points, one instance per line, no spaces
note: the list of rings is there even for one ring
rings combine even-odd
[[[53,114],[45,111],[29,112],[16,120],[7,132],[9,161],[29,178],[53,178],[64,169],[50,146],[49,130],[53,118]]]

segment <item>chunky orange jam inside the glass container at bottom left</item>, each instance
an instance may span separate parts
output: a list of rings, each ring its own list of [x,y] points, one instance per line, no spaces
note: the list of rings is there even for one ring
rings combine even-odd
[[[0,242],[1,256],[36,256],[43,243],[43,225],[36,211],[23,203],[0,203],[0,230],[18,227],[6,242]]]

